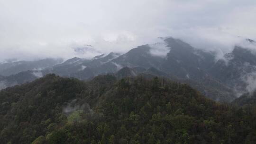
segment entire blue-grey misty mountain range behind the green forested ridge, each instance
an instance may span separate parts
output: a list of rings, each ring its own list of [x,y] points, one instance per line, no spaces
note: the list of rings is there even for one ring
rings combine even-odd
[[[74,57],[64,63],[51,61],[48,65],[40,65],[34,62],[31,68],[26,69],[13,67],[4,70],[2,66],[0,87],[33,81],[48,73],[80,80],[112,73],[119,78],[140,74],[167,77],[188,83],[210,99],[218,101],[229,102],[239,94],[254,89],[253,81],[249,81],[254,80],[256,73],[256,54],[253,50],[237,45],[230,54],[225,54],[223,59],[216,61],[213,52],[196,49],[173,37],[161,39],[162,43],[141,45],[126,54],[102,54],[91,60]],[[246,42],[256,45],[251,39],[246,39]]]

